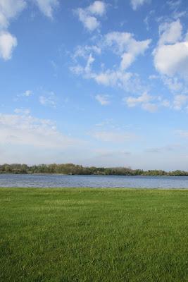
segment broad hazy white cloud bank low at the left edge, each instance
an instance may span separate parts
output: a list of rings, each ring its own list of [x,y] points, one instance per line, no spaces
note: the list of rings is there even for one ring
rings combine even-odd
[[[63,148],[77,142],[56,130],[53,122],[30,115],[0,114],[0,133],[1,145]]]

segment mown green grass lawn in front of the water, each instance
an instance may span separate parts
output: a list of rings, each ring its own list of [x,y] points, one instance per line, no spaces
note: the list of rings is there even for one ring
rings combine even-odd
[[[188,281],[188,190],[0,189],[0,281]]]

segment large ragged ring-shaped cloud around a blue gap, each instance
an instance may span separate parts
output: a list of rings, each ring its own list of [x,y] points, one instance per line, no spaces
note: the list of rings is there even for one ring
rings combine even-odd
[[[93,79],[100,85],[118,86],[128,92],[144,91],[145,87],[140,82],[139,75],[127,72],[126,69],[137,56],[144,54],[144,51],[149,48],[150,42],[151,39],[137,41],[128,32],[109,32],[102,37],[99,47],[77,47],[73,54],[74,66],[70,67],[70,71],[76,75],[82,75],[84,78]],[[102,70],[96,72],[92,64],[95,61],[95,56],[104,50],[113,51],[116,56],[119,56],[120,64],[112,69],[105,69],[104,66],[101,66]],[[79,56],[86,60],[85,66],[77,61]]]

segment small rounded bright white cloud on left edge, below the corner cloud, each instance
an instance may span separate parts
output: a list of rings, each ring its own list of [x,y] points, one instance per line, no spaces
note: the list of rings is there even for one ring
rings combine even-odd
[[[0,32],[0,58],[11,59],[13,49],[17,46],[17,39],[9,32]]]

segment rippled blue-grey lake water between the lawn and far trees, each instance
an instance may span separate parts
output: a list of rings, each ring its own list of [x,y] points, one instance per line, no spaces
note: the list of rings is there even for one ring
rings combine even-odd
[[[188,188],[188,177],[0,174],[0,187]]]

